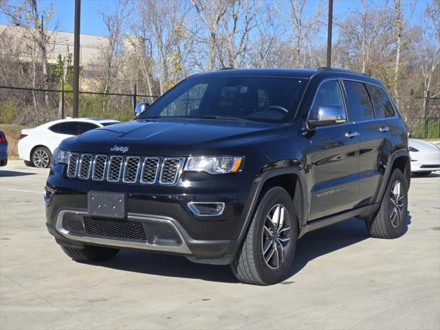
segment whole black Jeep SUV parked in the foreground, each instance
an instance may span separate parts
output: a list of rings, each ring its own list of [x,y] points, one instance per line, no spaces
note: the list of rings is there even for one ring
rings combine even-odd
[[[409,184],[406,124],[380,81],[224,69],[187,78],[131,122],[64,140],[47,228],[76,261],[143,249],[270,285],[310,230],[356,217],[373,237],[404,234]]]

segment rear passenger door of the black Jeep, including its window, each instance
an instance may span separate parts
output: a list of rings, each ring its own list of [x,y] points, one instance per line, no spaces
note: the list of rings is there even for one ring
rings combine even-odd
[[[367,85],[369,84],[344,80],[349,120],[355,122],[360,133],[360,188],[356,206],[371,203],[379,192],[393,146],[388,125],[376,113],[379,110],[377,96],[371,94],[373,88],[367,88]],[[376,111],[371,95],[374,95],[376,100]]]

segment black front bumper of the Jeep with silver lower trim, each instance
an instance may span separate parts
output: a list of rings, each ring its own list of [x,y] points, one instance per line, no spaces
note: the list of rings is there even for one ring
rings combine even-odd
[[[60,168],[52,168],[46,188],[46,224],[58,243],[76,248],[82,248],[84,245],[102,245],[181,254],[199,263],[226,265],[232,262],[247,215],[243,209],[252,180],[246,188],[245,185],[237,183],[237,177],[234,175],[217,177],[215,186],[212,182],[205,182],[195,184],[193,188],[180,185],[96,184],[65,179],[54,174],[54,171],[58,170],[62,171]],[[244,177],[245,175],[241,178]],[[184,179],[190,181],[191,177],[187,175]],[[85,230],[75,232],[65,228],[63,220],[66,217],[77,217],[80,221],[89,217],[89,191],[124,192],[128,211],[124,220],[141,223],[146,232],[145,239],[133,241],[105,234],[90,234]],[[191,201],[220,201],[225,204],[225,208],[215,217],[197,217],[188,208]],[[129,223],[131,224],[133,223]],[[168,230],[175,232],[178,239],[158,243],[150,234],[152,225],[155,224],[168,225]],[[81,226],[85,228],[84,222]]]

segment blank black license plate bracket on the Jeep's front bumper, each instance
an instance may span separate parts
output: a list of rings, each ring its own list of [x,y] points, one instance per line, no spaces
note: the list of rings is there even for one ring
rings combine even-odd
[[[126,217],[126,196],[91,191],[87,194],[87,209],[91,216],[123,219]]]

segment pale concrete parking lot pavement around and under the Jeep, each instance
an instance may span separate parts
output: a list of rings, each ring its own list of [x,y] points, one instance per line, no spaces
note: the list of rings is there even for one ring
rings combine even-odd
[[[298,241],[289,278],[238,283],[227,266],[126,250],[75,263],[45,228],[48,170],[0,170],[0,328],[439,329],[440,175],[412,178],[408,232],[351,219]]]

